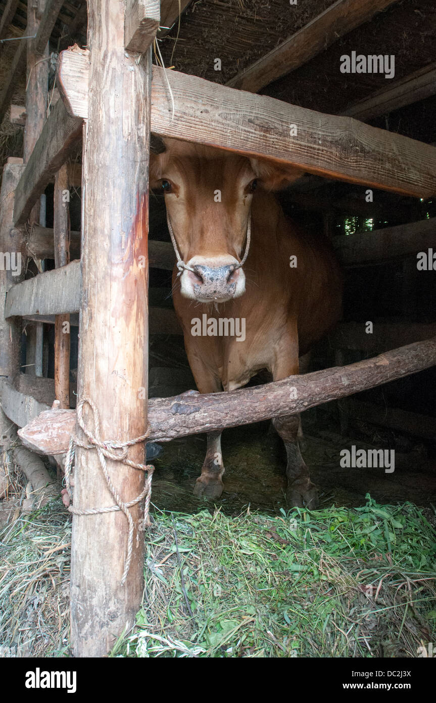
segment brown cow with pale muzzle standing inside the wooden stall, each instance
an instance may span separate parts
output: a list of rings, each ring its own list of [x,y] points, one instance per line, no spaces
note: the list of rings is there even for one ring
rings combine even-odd
[[[269,192],[300,174],[183,141],[165,146],[151,157],[150,185],[164,188],[178,256],[174,307],[199,392],[237,389],[264,368],[274,380],[298,373],[298,356],[336,323],[341,308],[341,276],[328,243],[286,219]],[[288,503],[315,507],[317,491],[298,448],[299,415],[273,423],[286,446]],[[208,434],[198,496],[223,491],[220,437]]]

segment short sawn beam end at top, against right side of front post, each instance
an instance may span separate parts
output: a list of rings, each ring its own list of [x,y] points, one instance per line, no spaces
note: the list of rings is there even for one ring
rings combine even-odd
[[[124,18],[126,51],[147,51],[156,37],[159,20],[160,0],[127,0]]]

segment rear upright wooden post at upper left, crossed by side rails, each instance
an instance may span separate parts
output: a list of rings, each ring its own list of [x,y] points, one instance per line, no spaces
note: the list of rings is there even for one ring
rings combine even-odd
[[[44,12],[45,0],[27,0],[27,34],[37,34],[41,13]],[[23,158],[25,164],[41,134],[46,121],[48,100],[48,44],[41,54],[36,50],[35,40],[27,39],[27,84],[26,84],[26,124],[23,141]],[[40,222],[39,202],[29,215],[29,224]],[[42,375],[43,325],[27,325],[26,373]]]

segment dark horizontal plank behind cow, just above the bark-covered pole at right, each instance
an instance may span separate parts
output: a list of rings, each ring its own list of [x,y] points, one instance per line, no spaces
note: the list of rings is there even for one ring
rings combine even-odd
[[[423,342],[436,335],[436,323],[378,323],[372,334],[366,334],[365,323],[341,323],[328,337],[333,349],[355,349],[381,354],[399,344]]]

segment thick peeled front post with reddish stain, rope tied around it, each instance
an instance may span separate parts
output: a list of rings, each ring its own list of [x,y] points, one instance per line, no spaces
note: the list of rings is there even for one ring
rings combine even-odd
[[[151,57],[124,50],[124,2],[88,0],[88,120],[82,181],[82,302],[78,396],[98,408],[102,439],[126,441],[147,427],[147,227]],[[146,396],[145,396],[146,397]],[[93,418],[85,412],[93,428]],[[144,460],[143,444],[129,449]],[[107,460],[122,500],[144,475]],[[114,505],[97,453],[77,449],[74,508]],[[138,527],[143,503],[131,508]],[[71,617],[76,657],[100,657],[134,623],[143,594],[144,533],[133,539],[122,512],[73,515]]]

